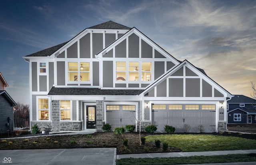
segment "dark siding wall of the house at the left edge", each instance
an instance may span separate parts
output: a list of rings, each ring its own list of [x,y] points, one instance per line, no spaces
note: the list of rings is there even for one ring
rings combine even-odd
[[[13,110],[12,104],[4,94],[0,95],[0,133],[7,133],[8,117],[10,117],[10,131],[13,131]]]

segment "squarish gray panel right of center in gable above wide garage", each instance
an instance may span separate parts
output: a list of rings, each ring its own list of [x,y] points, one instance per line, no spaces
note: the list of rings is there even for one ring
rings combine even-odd
[[[200,97],[199,78],[186,78],[186,97]]]

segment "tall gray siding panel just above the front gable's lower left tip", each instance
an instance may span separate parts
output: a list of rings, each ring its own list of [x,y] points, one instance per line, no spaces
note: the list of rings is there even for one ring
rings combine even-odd
[[[92,34],[92,58],[95,58],[95,54],[98,54],[103,49],[103,34]]]

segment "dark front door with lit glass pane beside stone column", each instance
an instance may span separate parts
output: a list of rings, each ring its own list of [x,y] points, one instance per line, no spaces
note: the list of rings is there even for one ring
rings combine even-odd
[[[95,129],[95,105],[87,105],[86,106],[86,129]]]

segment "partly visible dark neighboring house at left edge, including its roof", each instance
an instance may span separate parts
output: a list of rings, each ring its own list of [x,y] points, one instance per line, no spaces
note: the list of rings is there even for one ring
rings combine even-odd
[[[0,133],[13,131],[13,107],[17,104],[5,91],[8,84],[0,72]]]

